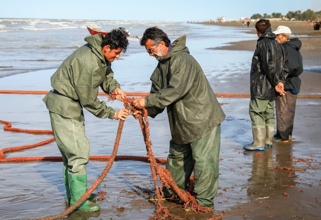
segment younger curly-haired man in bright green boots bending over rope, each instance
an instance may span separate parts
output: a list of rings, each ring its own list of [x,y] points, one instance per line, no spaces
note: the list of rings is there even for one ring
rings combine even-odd
[[[115,111],[98,99],[99,87],[108,94],[115,92],[117,100],[126,98],[114,79],[111,62],[125,53],[126,36],[120,30],[112,30],[104,37],[96,34],[85,38],[88,43],[67,57],[51,77],[53,89],[44,97],[49,110],[52,130],[63,156],[63,175],[66,202],[73,205],[87,191],[86,164],[89,161],[90,144],[85,135],[82,107],[99,118],[125,120],[127,109]],[[100,206],[91,202],[91,194],[76,209],[93,212]]]

